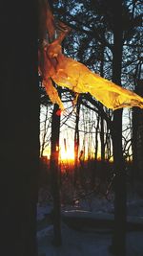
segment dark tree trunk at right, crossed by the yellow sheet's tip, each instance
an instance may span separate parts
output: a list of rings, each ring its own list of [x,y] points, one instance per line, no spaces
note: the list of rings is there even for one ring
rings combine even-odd
[[[112,81],[121,84],[122,64],[122,1],[113,7],[113,61]],[[114,231],[112,249],[115,255],[126,254],[126,175],[122,151],[122,109],[113,112],[112,150],[114,171]]]

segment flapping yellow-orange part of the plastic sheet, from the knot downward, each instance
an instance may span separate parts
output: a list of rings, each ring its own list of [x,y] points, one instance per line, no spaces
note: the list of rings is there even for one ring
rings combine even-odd
[[[53,93],[54,87],[51,87],[50,78],[59,86],[67,87],[76,93],[91,93],[97,101],[113,110],[132,106],[143,108],[143,98],[133,91],[103,79],[92,73],[84,64],[72,58],[66,58],[61,53],[61,46],[57,40],[48,45],[44,51],[43,64],[39,68],[43,77],[43,84],[46,84],[51,102],[58,104],[61,109],[63,109],[63,105],[55,91]],[[42,65],[44,66],[43,69],[41,68]]]

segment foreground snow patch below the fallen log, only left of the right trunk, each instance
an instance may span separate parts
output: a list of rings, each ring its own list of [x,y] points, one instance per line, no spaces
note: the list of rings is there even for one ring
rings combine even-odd
[[[45,256],[108,256],[108,245],[110,245],[110,235],[96,233],[83,233],[72,230],[65,224],[62,224],[61,247],[52,245],[52,232],[48,232],[45,238],[39,239],[39,255]]]

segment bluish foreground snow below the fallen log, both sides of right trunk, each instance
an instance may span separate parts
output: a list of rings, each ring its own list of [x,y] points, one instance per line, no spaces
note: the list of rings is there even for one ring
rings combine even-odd
[[[52,226],[38,232],[39,256],[112,256],[112,234],[106,230],[78,232],[62,224],[62,246],[54,247],[52,238]],[[143,256],[143,232],[127,234],[127,252],[127,256]]]

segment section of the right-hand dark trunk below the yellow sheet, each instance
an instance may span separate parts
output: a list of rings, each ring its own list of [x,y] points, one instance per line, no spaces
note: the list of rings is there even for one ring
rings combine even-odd
[[[122,154],[122,110],[113,114],[112,149],[114,161],[114,231],[112,247],[117,255],[125,255],[126,247],[126,175]]]

